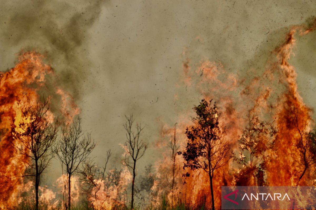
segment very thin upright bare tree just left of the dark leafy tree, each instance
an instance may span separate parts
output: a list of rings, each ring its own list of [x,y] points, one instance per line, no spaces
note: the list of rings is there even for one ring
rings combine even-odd
[[[171,149],[170,159],[172,162],[172,176],[171,176],[170,181],[168,179],[168,174],[166,174],[167,182],[169,183],[169,185],[171,187],[172,193],[173,193],[173,187],[176,184],[175,178],[177,177],[179,170],[180,170],[180,166],[177,166],[177,154],[178,154],[180,146],[178,145],[178,137],[176,135],[176,127],[177,127],[177,123],[175,123],[173,126],[173,135],[171,135],[171,141],[170,141],[170,145],[169,145],[169,148]]]

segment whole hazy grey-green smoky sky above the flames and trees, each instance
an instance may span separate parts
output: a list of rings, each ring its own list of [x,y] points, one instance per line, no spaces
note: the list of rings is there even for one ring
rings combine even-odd
[[[111,149],[111,167],[121,167],[122,123],[133,113],[149,142],[141,169],[167,149],[155,149],[161,127],[189,120],[202,97],[183,83],[187,58],[192,71],[210,60],[250,80],[267,68],[289,28],[308,23],[315,11],[313,1],[3,2],[0,67],[12,68],[21,50],[44,54],[55,71],[48,81],[72,94],[81,109],[99,165]],[[312,108],[315,34],[298,38],[291,59],[301,96]],[[57,161],[50,170],[61,173]]]

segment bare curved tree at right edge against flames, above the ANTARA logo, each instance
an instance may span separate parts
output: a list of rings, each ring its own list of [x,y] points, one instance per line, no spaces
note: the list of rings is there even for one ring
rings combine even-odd
[[[300,184],[301,179],[308,168],[316,165],[316,133],[315,131],[308,131],[311,117],[304,114],[298,107],[291,107],[292,123],[297,131],[298,138],[295,140],[294,146],[299,151],[295,153],[295,167],[293,172],[297,176],[296,185]]]

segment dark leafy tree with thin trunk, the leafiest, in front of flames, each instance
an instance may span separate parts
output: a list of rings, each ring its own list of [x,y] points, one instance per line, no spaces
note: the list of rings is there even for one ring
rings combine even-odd
[[[225,139],[225,127],[220,125],[221,115],[216,103],[213,107],[203,99],[194,110],[197,117],[192,117],[193,125],[186,128],[188,138],[184,151],[178,152],[185,159],[183,168],[198,170],[202,168],[210,178],[212,210],[215,209],[213,194],[213,176],[216,169],[224,166],[233,157],[230,145]],[[184,176],[190,176],[189,173]]]

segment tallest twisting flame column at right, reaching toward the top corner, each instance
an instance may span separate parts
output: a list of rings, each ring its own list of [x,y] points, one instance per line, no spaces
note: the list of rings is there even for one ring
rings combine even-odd
[[[299,183],[297,175],[292,176],[293,172],[300,167],[296,160],[299,151],[294,146],[298,141],[298,131],[308,132],[312,129],[312,110],[304,104],[297,90],[297,73],[295,67],[290,65],[288,60],[293,54],[292,49],[295,46],[296,39],[294,35],[296,32],[299,31],[302,36],[315,29],[316,21],[310,28],[294,27],[287,35],[285,43],[273,51],[276,54],[277,61],[271,71],[279,71],[280,81],[286,87],[286,90],[280,96],[276,114],[276,124],[279,130],[276,138],[276,149],[282,151],[283,154],[277,155],[275,162],[271,161],[267,165],[268,179],[271,185],[311,184],[307,181],[311,179],[307,174],[301,183]],[[272,162],[273,164],[271,164]],[[313,171],[314,169],[309,169],[311,174],[313,174]],[[289,172],[292,172],[292,174]]]

